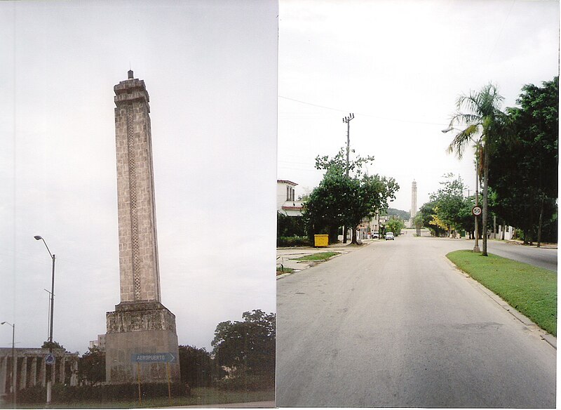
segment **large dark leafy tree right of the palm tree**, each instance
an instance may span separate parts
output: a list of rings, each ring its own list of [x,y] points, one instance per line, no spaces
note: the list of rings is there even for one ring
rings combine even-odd
[[[496,212],[522,229],[525,242],[537,239],[538,245],[544,233],[557,239],[559,77],[542,85],[525,85],[520,107],[508,108],[514,138],[500,140],[489,164]]]

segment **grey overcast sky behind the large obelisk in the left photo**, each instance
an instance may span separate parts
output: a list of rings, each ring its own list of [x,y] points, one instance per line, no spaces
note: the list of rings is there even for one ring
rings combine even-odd
[[[162,303],[180,344],[275,310],[276,1],[0,2],[0,321],[83,353],[120,302],[113,86],[150,95]],[[0,346],[11,346],[0,326]]]

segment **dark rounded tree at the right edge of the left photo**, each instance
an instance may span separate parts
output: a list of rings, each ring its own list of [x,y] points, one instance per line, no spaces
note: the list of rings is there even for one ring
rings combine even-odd
[[[221,322],[216,326],[212,353],[219,366],[235,377],[260,376],[274,381],[275,318],[262,310],[244,312],[243,322]]]

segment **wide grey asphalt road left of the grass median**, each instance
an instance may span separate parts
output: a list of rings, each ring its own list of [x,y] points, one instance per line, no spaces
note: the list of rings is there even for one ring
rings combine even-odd
[[[277,282],[277,406],[554,407],[555,349],[461,275],[375,242]]]

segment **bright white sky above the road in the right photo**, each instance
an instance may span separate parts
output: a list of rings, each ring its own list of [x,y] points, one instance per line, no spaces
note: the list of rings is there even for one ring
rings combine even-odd
[[[410,211],[413,180],[420,207],[448,172],[473,194],[473,150],[458,161],[440,132],[458,96],[492,82],[512,107],[558,72],[558,1],[283,0],[279,25],[278,178],[297,195],[346,144],[350,112],[351,149],[401,187],[391,207]]]

